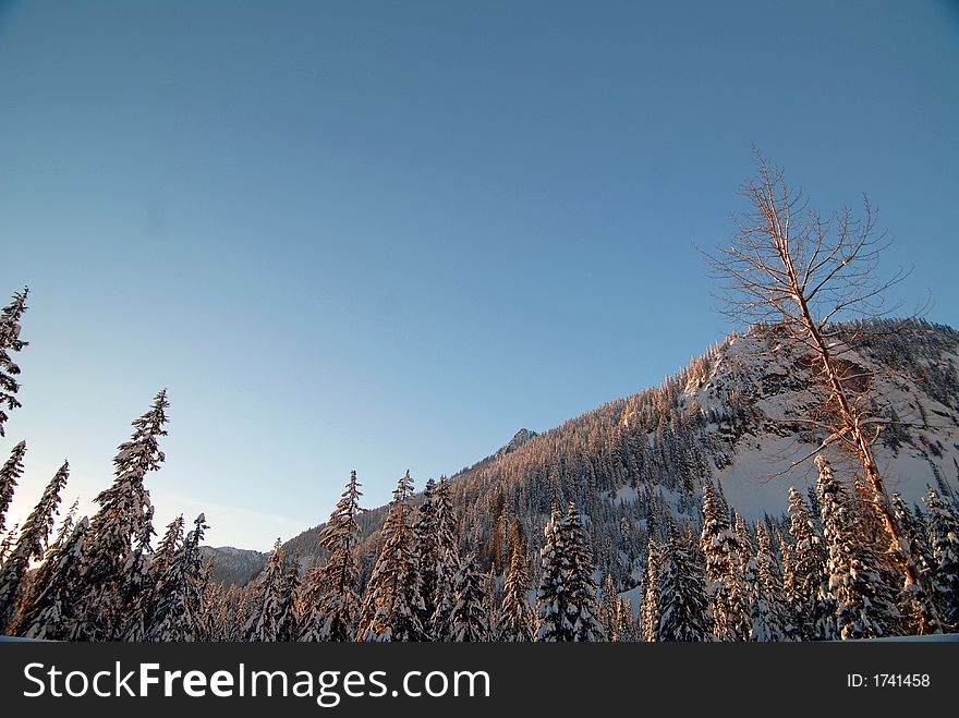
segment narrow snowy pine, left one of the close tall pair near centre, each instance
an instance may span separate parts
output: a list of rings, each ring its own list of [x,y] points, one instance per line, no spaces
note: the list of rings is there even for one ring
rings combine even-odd
[[[536,641],[573,640],[566,585],[570,557],[562,523],[562,514],[554,506],[549,523],[546,524],[546,543],[539,550],[542,572],[536,592]]]

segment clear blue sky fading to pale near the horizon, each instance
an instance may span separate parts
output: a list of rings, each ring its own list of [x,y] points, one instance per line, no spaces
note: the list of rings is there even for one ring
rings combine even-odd
[[[730,328],[694,246],[753,144],[956,326],[957,77],[947,2],[2,3],[14,518],[161,387],[159,530],[266,549],[658,384]]]

